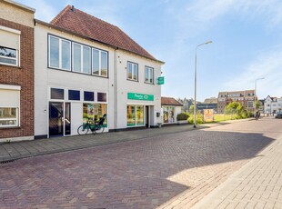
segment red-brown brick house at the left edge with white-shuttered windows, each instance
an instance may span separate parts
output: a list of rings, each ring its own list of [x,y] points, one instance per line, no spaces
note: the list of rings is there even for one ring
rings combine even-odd
[[[34,138],[35,9],[0,0],[0,142]]]

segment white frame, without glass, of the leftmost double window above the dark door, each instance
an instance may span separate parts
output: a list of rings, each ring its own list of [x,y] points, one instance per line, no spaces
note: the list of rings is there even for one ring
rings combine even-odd
[[[55,66],[51,65],[51,49],[50,49],[50,46],[51,46],[50,45],[50,39],[51,39],[51,37],[59,40],[59,67],[55,67]],[[69,60],[70,60],[69,69],[63,68],[63,66],[62,66],[62,63],[63,63],[62,62],[63,61],[62,60],[63,59],[63,57],[62,57],[62,42],[63,41],[69,43]],[[71,44],[72,43],[69,40],[66,40],[64,38],[60,38],[60,37],[57,37],[55,35],[48,35],[48,67],[60,69],[60,70],[65,70],[65,71],[71,71],[71,68],[72,68],[72,66],[71,66],[71,59],[72,59],[72,57],[71,57]]]

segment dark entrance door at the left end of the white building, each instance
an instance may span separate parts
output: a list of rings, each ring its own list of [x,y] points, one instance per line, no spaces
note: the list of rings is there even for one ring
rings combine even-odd
[[[64,103],[49,103],[49,135],[64,135]]]

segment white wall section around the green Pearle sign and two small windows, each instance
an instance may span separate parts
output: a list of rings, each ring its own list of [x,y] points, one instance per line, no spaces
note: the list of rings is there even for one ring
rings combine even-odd
[[[138,64],[138,82],[129,81],[126,78],[127,61]],[[145,66],[154,68],[154,85],[145,83]],[[117,51],[117,128],[126,128],[127,120],[127,104],[144,104],[154,105],[150,113],[150,125],[161,123],[161,117],[156,117],[156,113],[161,113],[161,86],[156,85],[156,78],[161,76],[161,64],[146,59],[144,57],[127,53],[125,51]],[[127,93],[138,93],[145,95],[154,95],[154,101],[141,101],[127,99]],[[154,113],[153,113],[154,111]]]

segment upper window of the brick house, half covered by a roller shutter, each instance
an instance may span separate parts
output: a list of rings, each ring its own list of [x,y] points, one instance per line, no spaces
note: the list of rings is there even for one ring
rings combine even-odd
[[[21,32],[0,25],[0,64],[19,65]]]

